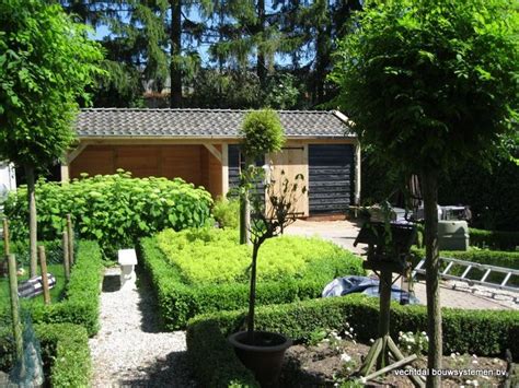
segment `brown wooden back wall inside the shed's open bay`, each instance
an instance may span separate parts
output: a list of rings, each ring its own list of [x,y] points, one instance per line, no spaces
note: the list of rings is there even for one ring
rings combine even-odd
[[[70,177],[114,174],[117,168],[135,177],[158,176],[203,185],[221,195],[221,164],[204,145],[89,145],[70,166]]]

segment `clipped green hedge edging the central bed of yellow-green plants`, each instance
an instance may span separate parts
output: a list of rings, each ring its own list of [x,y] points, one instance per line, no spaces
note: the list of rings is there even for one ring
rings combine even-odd
[[[276,242],[273,243],[275,247]],[[320,243],[326,246],[331,244]],[[321,295],[324,286],[334,278],[365,273],[360,258],[338,248],[335,251],[337,254],[334,256],[312,261],[313,272],[308,271],[302,279],[285,277],[276,281],[260,281],[256,291],[257,304],[280,304],[314,298]],[[189,283],[180,268],[165,257],[155,238],[141,239],[139,256],[151,274],[162,325],[168,330],[185,328],[187,320],[197,314],[247,306],[249,283],[245,280],[219,284]]]

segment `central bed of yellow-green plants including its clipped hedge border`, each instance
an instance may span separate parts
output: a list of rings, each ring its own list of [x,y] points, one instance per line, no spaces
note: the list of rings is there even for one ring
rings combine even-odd
[[[251,247],[238,232],[164,231],[143,238],[140,257],[150,272],[163,326],[185,328],[197,314],[247,306]],[[267,240],[258,258],[257,304],[319,297],[334,278],[364,274],[362,260],[318,238]]]

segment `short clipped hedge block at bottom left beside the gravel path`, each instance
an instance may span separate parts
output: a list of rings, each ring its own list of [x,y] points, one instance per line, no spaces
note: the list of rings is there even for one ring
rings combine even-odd
[[[36,325],[42,358],[51,387],[88,387],[92,374],[89,336],[71,324]]]

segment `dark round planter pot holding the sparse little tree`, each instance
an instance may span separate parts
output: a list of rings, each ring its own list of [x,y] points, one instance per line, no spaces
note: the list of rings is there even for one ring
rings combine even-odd
[[[239,331],[229,336],[228,340],[240,361],[254,373],[263,388],[277,387],[282,358],[292,341],[268,331],[255,331],[254,338],[254,344],[249,344],[246,331]]]

